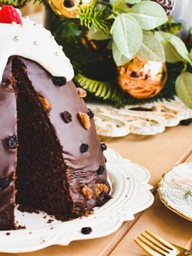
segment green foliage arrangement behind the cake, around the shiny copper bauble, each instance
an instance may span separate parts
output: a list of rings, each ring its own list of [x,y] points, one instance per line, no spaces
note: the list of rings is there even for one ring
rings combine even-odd
[[[62,11],[55,9],[55,1],[49,3],[61,14]],[[191,37],[189,33],[186,42],[182,41],[181,23],[167,17],[174,0],[92,0],[89,3],[84,0],[83,4],[73,1],[61,1],[61,9],[66,8],[68,13],[75,10],[75,17],[59,17],[47,9],[50,15],[47,27],[73,63],[77,85],[89,92],[91,99],[96,97],[124,105],[172,99],[176,93],[192,108]],[[4,2],[19,4],[20,1]],[[135,99],[118,85],[117,67],[135,56],[167,62],[167,82],[154,98]]]

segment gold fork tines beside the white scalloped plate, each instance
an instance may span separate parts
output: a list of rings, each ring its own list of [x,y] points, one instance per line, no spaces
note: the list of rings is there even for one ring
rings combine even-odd
[[[147,234],[146,234],[147,233]],[[192,253],[146,230],[134,242],[150,256],[192,256]]]

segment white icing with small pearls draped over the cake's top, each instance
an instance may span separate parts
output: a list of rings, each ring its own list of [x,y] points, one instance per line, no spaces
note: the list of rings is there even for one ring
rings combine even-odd
[[[21,15],[19,10],[18,13]],[[65,76],[70,81],[74,77],[73,67],[51,32],[28,17],[21,20],[22,24],[0,23],[0,81],[12,55],[34,60],[52,76]]]

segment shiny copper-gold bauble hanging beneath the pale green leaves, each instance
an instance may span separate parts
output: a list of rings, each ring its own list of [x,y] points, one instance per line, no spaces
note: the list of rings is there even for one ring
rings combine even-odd
[[[154,97],[163,89],[167,80],[165,63],[138,57],[118,67],[118,73],[121,88],[137,99]]]

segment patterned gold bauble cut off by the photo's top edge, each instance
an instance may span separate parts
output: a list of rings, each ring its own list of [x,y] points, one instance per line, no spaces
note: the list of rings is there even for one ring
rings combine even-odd
[[[93,0],[49,0],[51,9],[58,15],[67,18],[77,18],[78,7],[92,4]]]

